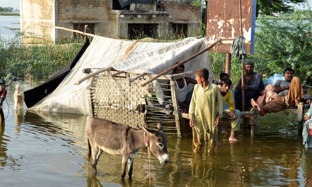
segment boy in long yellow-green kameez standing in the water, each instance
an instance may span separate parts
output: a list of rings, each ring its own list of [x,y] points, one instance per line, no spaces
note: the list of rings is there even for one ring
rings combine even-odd
[[[219,88],[208,81],[209,72],[200,68],[195,72],[197,85],[194,87],[190,103],[189,118],[193,128],[193,151],[199,153],[204,141],[220,145],[218,125],[223,106]]]

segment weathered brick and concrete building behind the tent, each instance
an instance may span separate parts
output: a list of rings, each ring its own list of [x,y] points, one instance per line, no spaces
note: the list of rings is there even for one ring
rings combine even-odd
[[[122,0],[20,0],[21,30],[54,41],[76,34],[44,25],[84,31],[88,24],[90,33],[110,38],[198,35],[202,11],[192,0],[133,1],[144,3],[121,7]]]

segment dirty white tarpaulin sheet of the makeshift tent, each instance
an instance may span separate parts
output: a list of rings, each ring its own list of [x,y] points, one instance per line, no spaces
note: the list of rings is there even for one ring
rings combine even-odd
[[[207,46],[206,38],[148,43],[95,36],[76,66],[57,89],[29,109],[89,115],[88,81],[75,85],[79,79],[86,76],[82,72],[83,69],[96,70],[112,66],[115,70],[134,74],[159,74]],[[209,80],[214,79],[208,52],[185,64],[186,71],[195,72],[200,67],[209,70]]]

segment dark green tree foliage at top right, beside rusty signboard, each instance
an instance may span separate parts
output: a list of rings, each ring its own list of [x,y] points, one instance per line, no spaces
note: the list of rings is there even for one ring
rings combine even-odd
[[[276,12],[292,12],[291,3],[304,3],[307,0],[257,0],[256,17],[258,14],[272,15]]]

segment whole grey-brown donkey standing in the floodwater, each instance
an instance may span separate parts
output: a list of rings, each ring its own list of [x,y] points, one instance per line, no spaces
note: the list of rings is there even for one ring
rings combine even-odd
[[[132,179],[133,159],[144,148],[149,148],[160,164],[169,162],[167,152],[167,138],[162,124],[157,128],[131,128],[105,119],[92,118],[87,128],[88,157],[92,155],[92,168],[97,173],[97,164],[103,151],[112,155],[122,156],[121,180],[126,174],[128,162],[128,176]]]

